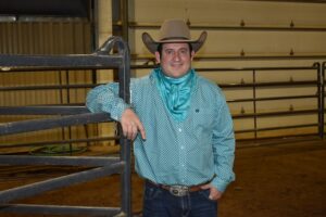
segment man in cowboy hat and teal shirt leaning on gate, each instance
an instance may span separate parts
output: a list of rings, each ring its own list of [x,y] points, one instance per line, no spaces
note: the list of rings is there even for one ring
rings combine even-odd
[[[221,89],[191,68],[206,39],[190,39],[184,21],[165,21],[160,38],[142,40],[160,67],[130,82],[130,104],[118,85],[91,90],[87,106],[108,112],[134,140],[136,171],[146,180],[145,217],[216,217],[233,173],[235,139]]]

